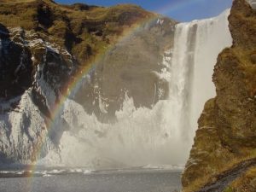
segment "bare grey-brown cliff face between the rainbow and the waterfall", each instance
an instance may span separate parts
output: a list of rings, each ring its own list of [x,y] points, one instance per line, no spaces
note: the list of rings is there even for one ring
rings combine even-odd
[[[125,95],[133,98],[136,108],[152,108],[166,99],[168,83],[157,74],[164,68],[165,51],[172,48],[175,24],[153,20],[114,44],[83,80],[74,99],[102,122],[115,120]]]

